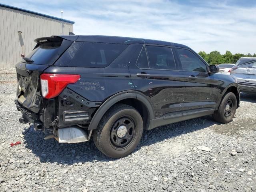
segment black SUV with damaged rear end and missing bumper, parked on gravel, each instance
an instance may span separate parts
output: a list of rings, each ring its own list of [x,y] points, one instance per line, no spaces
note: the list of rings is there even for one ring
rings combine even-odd
[[[239,106],[235,79],[216,74],[187,46],[112,36],[51,36],[16,64],[21,123],[47,138],[91,137],[105,155],[130,154],[143,130],[212,114],[228,123]]]

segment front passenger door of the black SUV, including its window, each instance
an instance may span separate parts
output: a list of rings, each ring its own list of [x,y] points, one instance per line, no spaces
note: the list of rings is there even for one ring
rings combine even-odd
[[[218,85],[215,74],[189,49],[175,48],[185,82],[184,114],[191,110],[213,110],[218,103]]]

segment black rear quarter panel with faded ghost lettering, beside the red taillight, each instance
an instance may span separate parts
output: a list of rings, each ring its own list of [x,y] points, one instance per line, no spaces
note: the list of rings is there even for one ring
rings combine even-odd
[[[117,72],[118,71],[118,72]],[[56,67],[47,68],[45,73],[79,74],[81,78],[68,88],[90,101],[103,101],[115,93],[133,90],[128,68],[81,68]]]

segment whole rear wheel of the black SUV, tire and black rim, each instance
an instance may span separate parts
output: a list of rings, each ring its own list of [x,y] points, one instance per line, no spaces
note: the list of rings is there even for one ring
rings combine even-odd
[[[115,104],[100,120],[93,132],[95,146],[111,158],[130,154],[142,137],[143,121],[132,106]]]

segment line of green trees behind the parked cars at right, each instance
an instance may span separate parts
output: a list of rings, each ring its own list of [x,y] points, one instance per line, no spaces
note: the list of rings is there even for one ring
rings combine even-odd
[[[236,63],[240,57],[256,57],[256,54],[254,53],[253,55],[248,53],[248,54],[241,54],[241,53],[236,53],[232,54],[230,51],[226,51],[225,54],[220,54],[218,51],[212,51],[210,53],[206,53],[204,51],[200,51],[198,53],[208,64],[222,64],[222,63]]]

